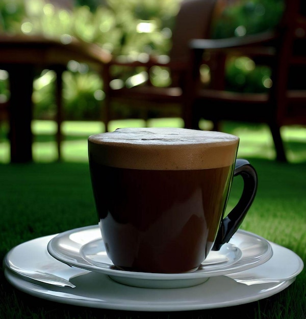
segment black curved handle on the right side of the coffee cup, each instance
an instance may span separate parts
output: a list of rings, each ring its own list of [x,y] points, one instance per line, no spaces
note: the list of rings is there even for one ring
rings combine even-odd
[[[243,178],[243,192],[237,205],[221,221],[212,250],[219,250],[221,246],[230,241],[238,230],[248,209],[250,208],[257,191],[257,173],[246,159],[237,159],[234,176]]]

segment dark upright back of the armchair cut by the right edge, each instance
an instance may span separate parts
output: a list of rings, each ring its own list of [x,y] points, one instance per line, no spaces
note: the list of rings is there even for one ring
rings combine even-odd
[[[282,125],[306,123],[306,2],[287,0],[276,30],[276,59],[272,65],[270,99]],[[296,115],[295,115],[296,114]],[[285,122],[284,122],[285,121]],[[292,123],[290,123],[292,122]]]

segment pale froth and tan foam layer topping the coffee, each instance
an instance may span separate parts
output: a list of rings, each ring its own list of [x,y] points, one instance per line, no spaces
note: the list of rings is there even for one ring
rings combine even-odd
[[[90,161],[120,168],[196,170],[230,166],[239,138],[186,128],[119,128],[88,138]]]

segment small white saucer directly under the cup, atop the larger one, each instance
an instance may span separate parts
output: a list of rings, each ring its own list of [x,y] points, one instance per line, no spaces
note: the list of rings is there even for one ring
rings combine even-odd
[[[95,242],[98,240],[98,242]],[[112,279],[136,287],[149,288],[178,288],[189,287],[205,282],[210,277],[226,275],[247,270],[269,260],[273,254],[271,245],[264,238],[250,232],[238,230],[228,245],[219,252],[213,252],[198,270],[180,274],[156,274],[118,270],[111,260],[102,255],[101,258],[90,255],[91,249],[98,253],[103,246],[98,225],[72,229],[58,234],[47,245],[48,252],[56,259],[74,267],[99,272],[111,276]],[[84,246],[85,245],[85,246]],[[89,246],[87,246],[89,245]],[[81,248],[84,246],[83,256]],[[238,250],[236,250],[238,248]],[[231,253],[231,254],[230,254]],[[242,256],[240,255],[242,253]],[[228,257],[230,256],[231,257]],[[220,257],[221,260],[230,258],[228,262],[209,264],[210,260]],[[90,262],[89,262],[90,260]],[[100,262],[97,263],[96,261]],[[94,264],[93,264],[94,263]]]

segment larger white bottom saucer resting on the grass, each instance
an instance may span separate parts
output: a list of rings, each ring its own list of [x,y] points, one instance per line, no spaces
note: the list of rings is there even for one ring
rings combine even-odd
[[[50,301],[104,309],[182,311],[241,305],[268,298],[288,287],[303,268],[302,260],[287,248],[270,243],[273,256],[266,263],[239,273],[253,284],[238,283],[232,275],[210,278],[206,283],[178,289],[136,288],[119,284],[107,275],[70,267],[47,252],[55,235],[16,246],[4,259],[5,276],[16,288]],[[31,256],[31,258],[25,258]],[[290,260],[290,262],[288,262]],[[58,287],[15,274],[11,266],[40,271],[70,280],[76,287]],[[238,273],[234,274],[237,276]],[[258,283],[263,278],[266,283]]]

